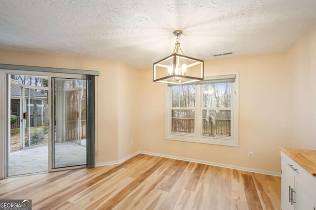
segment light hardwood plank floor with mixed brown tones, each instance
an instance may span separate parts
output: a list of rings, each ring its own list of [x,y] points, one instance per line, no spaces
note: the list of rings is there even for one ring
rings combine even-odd
[[[279,210],[280,177],[138,154],[119,165],[0,180],[36,209]]]

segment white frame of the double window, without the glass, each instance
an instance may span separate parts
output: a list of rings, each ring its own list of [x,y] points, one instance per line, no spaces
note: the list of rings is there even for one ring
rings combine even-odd
[[[195,107],[190,108],[180,108],[180,109],[190,109],[195,110],[195,133],[194,134],[174,134],[171,133],[171,113],[172,113],[172,87],[166,84],[165,88],[165,139],[174,141],[185,141],[185,142],[195,142],[202,144],[214,144],[223,146],[239,146],[239,75],[238,72],[229,72],[217,75],[207,75],[204,77],[206,80],[221,80],[230,75],[236,75],[235,82],[232,83],[232,109],[231,108],[219,108],[216,110],[231,110],[231,137],[230,138],[216,138],[216,137],[205,137],[202,135],[202,110],[207,108],[202,107],[202,85],[196,86],[195,95]],[[190,85],[190,84],[187,84]],[[176,108],[179,109],[179,108]]]

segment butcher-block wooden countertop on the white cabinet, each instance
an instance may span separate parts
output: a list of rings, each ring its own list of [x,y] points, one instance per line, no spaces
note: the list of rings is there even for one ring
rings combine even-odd
[[[292,158],[297,164],[316,177],[316,150],[303,150],[294,148],[284,148],[282,150],[287,156]]]

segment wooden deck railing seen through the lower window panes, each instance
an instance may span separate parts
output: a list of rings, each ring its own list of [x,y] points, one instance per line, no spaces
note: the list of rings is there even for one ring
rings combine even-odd
[[[194,118],[172,118],[171,132],[193,134],[195,131],[194,122]],[[209,137],[230,137],[231,120],[216,119],[215,124],[213,124],[203,119],[202,134]]]

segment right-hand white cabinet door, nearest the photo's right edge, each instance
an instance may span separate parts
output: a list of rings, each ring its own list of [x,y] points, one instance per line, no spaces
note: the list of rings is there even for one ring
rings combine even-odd
[[[315,195],[312,190],[306,186],[300,179],[295,179],[296,189],[294,200],[296,201],[296,210],[314,210]]]

